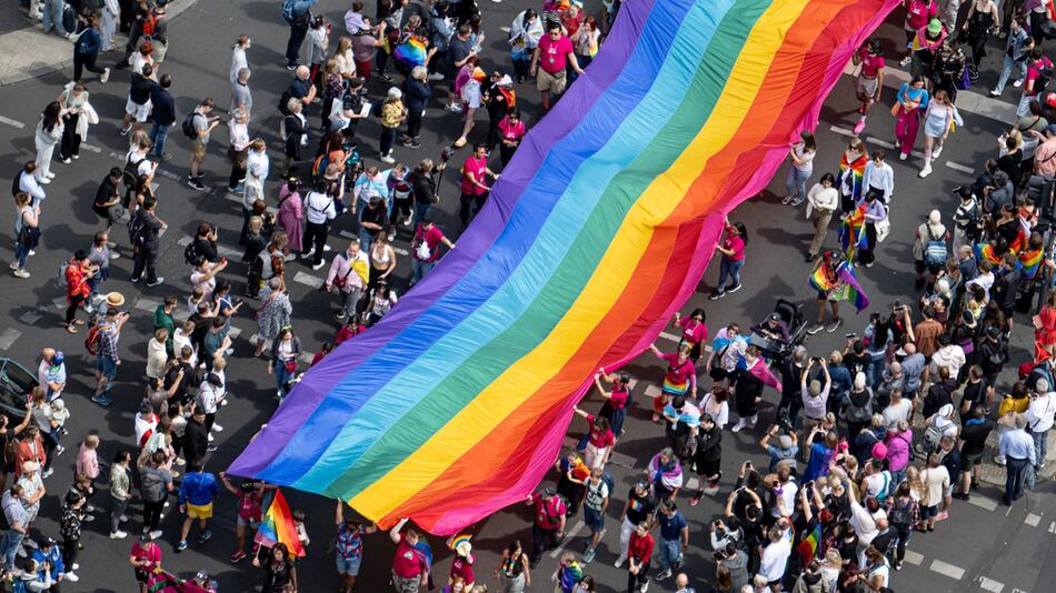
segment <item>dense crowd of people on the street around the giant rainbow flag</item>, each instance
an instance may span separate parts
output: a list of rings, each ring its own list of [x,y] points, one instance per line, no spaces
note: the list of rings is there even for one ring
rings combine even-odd
[[[159,213],[165,203],[156,175],[159,164],[173,160],[166,145],[177,122],[190,145],[187,185],[209,190],[203,165],[222,152],[230,174],[219,189],[240,198],[243,217],[240,262],[221,257],[215,224],[170,221],[195,225],[185,242],[186,269],[171,271],[186,274],[191,292],[166,295],[153,312],[145,376],[136,379],[146,384],[146,396],[137,406],[135,442],[107,470],[96,454],[107,435],[92,431],[78,444],[73,484],[57,492],[59,533],[41,533],[34,521],[54,458],[66,450],[61,443],[70,410],[62,396],[67,369],[61,349],[41,352],[39,385],[27,393],[24,416],[0,415],[6,461],[0,488],[7,489],[2,507],[9,526],[0,541],[0,562],[6,579],[20,590],[59,591],[62,583],[76,583],[82,525],[96,519],[93,513],[104,513],[106,533],[113,540],[128,537],[127,525],[139,523],[140,537],[128,557],[146,592],[165,573],[156,541],[166,536],[160,523],[170,495],[183,517],[180,533],[171,534],[181,552],[212,537],[213,504],[229,492],[237,503],[220,503],[238,507],[231,563],[251,557],[265,591],[296,592],[291,551],[285,544],[268,550],[250,542],[275,486],[206,471],[215,434],[225,430],[218,416],[231,399],[226,369],[238,360],[232,319],[256,309],[255,358],[266,358],[260,366],[273,378],[281,401],[299,373],[377,323],[397,305],[398,291],[421,281],[456,249],[456,240],[437,224],[434,208],[445,170],[460,172],[461,231],[487,202],[491,184],[527,133],[518,92],[530,79],[541,109],[551,109],[589,66],[620,4],[614,0],[585,8],[580,0],[547,0],[538,10],[519,12],[502,23],[509,29],[508,56],[492,56],[491,63],[501,66],[488,72],[480,58],[486,39],[481,7],[471,0],[379,0],[372,14],[353,1],[336,23],[312,11],[317,3],[277,2],[289,27],[285,62],[291,80],[275,89],[281,92],[281,125],[273,132],[282,139],[276,175],[268,143],[249,133],[249,123],[272,109],[253,105],[249,36],[233,42],[230,102],[202,98],[193,110],[178,113],[172,89],[179,81],[165,64],[170,43],[178,41],[169,36],[167,0],[73,1],[72,24],[62,2],[29,2],[30,16],[39,14],[46,32],[54,29],[72,41],[73,77],[44,108],[34,133],[37,155],[16,174],[13,278],[31,277],[30,258],[49,218],[48,184],[57,175],[51,161],[78,159],[88,128],[112,115],[96,112],[82,74],[97,74],[104,84],[111,74],[117,79],[129,71],[119,125],[129,144],[123,167],[106,171],[92,202],[99,227],[91,245],[76,250],[57,279],[68,303],[62,326],[70,334],[83,332],[83,348],[94,361],[92,402],[111,405],[108,392],[119,371],[122,380],[131,374],[120,366],[119,348],[122,333],[132,328],[127,325],[130,313],[114,284],[128,280],[157,288],[166,282],[157,269],[168,224]],[[1056,94],[1046,92],[1053,64],[1042,51],[1048,22],[1044,3],[1004,4],[1002,12],[992,0],[945,7],[906,0],[906,52],[885,56],[884,43],[875,39],[854,57],[860,102],[856,134],[868,121],[886,117],[873,109],[880,102],[885,58],[904,58],[901,66],[909,68],[910,80],[901,84],[890,112],[901,160],[911,157],[923,128],[920,178],[933,172],[944,142],[963,125],[957,91],[977,80],[982,57],[994,47],[989,37],[1007,39],[1004,70],[992,94],[1002,94],[1009,78],[1022,88],[1017,121],[999,139],[997,158],[983,163],[976,182],[957,190],[959,205],[945,213],[949,225],[944,212],[935,210],[916,229],[919,299],[871,312],[861,335],[849,334],[841,350],[826,355],[808,351],[806,336],[833,333],[844,324],[840,303],[854,302],[857,294],[851,280],[875,264],[877,245],[890,232],[896,179],[887,153],[870,151],[855,138],[837,171],[810,185],[817,142],[804,131],[789,147],[781,203],[806,203],[815,229],[805,259],[814,265],[816,322],[800,324],[797,315],[776,312],[751,326],[726,323],[713,334],[704,309],[676,314],[677,346],[651,348],[665,371],[660,394],[648,403],[632,396],[635,381],[628,373],[599,370],[595,382],[601,405],[590,399],[576,409],[587,422],[586,431],[572,425],[582,435],[579,445],[555,463],[556,484],[526,499],[534,514],[530,545],[512,541],[504,551],[491,574],[500,591],[518,593],[534,580],[548,581],[544,586],[562,593],[597,591],[590,566],[599,551],[609,550],[616,555],[612,564],[627,570],[628,592],[645,592],[655,580],[689,593],[695,591],[691,580],[704,580],[717,592],[878,593],[893,587],[891,570],[901,569],[914,532],[926,536],[942,530],[940,522],[955,514],[953,500],[973,495],[987,452],[996,452],[996,463],[1006,469],[1002,502],[1010,505],[1033,488],[1056,413],[1056,296],[1048,291],[1056,263],[1046,253],[1056,177]],[[127,34],[123,48],[117,44],[119,33]],[[107,52],[117,52],[109,68],[99,64]],[[91,92],[112,86],[93,86]],[[436,104],[451,113],[442,117],[461,118],[451,148],[439,162],[398,161],[397,145],[400,154],[420,149],[424,115]],[[478,111],[487,115],[486,127],[476,125]],[[380,123],[376,150],[368,147],[373,139],[359,129],[365,119]],[[228,133],[221,134],[225,129]],[[217,135],[226,135],[226,150],[216,148],[223,143]],[[465,160],[451,164],[464,147],[470,147]],[[281,178],[278,183],[269,184],[276,177]],[[834,219],[839,247],[827,248]],[[337,221],[351,221],[355,232],[335,249]],[[127,227],[127,242],[121,227]],[[748,240],[745,224],[727,221],[717,248],[720,278],[710,300],[743,288]],[[398,242],[409,245],[407,279],[396,274]],[[112,279],[110,264],[120,251],[131,253],[133,269],[127,279]],[[231,263],[242,265],[229,268]],[[233,275],[236,269],[240,278]],[[335,295],[335,311],[327,313],[337,320],[335,336],[313,355],[292,324],[297,302],[287,288],[292,269],[326,269],[318,279],[321,290]],[[245,300],[233,294],[236,285]],[[1044,306],[1030,315],[1035,300]],[[1018,331],[1033,330],[1037,348],[1034,358],[1015,361],[1023,363],[1015,368],[1018,380],[1005,381],[1002,372],[1013,369],[1008,344],[1017,313],[1020,325],[1030,319],[1033,328]],[[760,349],[754,334],[778,348]],[[81,348],[79,340],[69,348]],[[767,388],[780,393],[776,406],[765,402]],[[667,446],[625,491],[617,490],[606,468],[625,435],[632,404],[663,424]],[[724,475],[727,428],[754,433],[769,456],[767,466],[745,461],[736,465],[736,476]],[[988,444],[993,442],[996,446]],[[690,472],[698,484],[691,490]],[[719,496],[724,489],[728,494]],[[681,505],[696,506],[709,496],[724,512],[707,533],[693,533]],[[130,509],[140,505],[142,520],[131,520]],[[612,509],[620,511],[614,514]],[[536,575],[544,553],[566,537],[568,520],[580,511],[589,531],[582,552],[566,543],[554,574]],[[619,529],[607,531],[614,516]],[[307,547],[305,514],[295,510],[293,517]],[[377,526],[347,512],[341,502],[335,525],[339,590],[349,593],[362,567],[365,536]],[[389,536],[397,547],[395,589],[414,593],[431,586],[425,534],[400,522]],[[447,543],[455,560],[445,593],[487,591],[484,579],[475,575],[471,542]],[[714,554],[714,573],[710,565],[687,565],[686,554],[694,547]],[[216,591],[203,572],[182,586]]]

